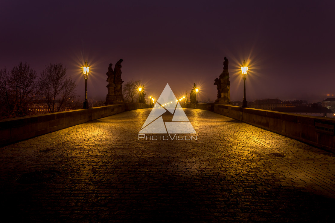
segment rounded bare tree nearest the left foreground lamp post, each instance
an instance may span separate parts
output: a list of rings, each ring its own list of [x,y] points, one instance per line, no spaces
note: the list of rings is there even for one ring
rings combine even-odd
[[[77,84],[66,77],[63,64],[48,64],[39,79],[40,96],[50,113],[67,110],[76,95]]]

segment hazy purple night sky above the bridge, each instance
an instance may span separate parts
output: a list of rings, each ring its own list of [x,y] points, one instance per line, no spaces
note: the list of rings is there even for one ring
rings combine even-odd
[[[335,94],[334,1],[15,1],[1,3],[0,69],[27,62],[38,74],[63,63],[84,98],[81,66],[91,66],[88,98],[106,99],[108,66],[141,79],[147,96],[166,83],[179,97],[216,99],[214,79],[229,60],[231,101],[318,102]]]

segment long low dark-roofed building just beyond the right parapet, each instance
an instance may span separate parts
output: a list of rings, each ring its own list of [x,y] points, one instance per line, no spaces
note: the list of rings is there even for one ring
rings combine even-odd
[[[318,106],[316,103],[314,103],[311,107],[300,105],[293,108],[275,108],[273,111],[278,112],[288,112],[288,113],[294,113],[299,115],[311,115],[311,116],[319,116],[319,117],[327,117],[327,118],[333,118],[334,112],[330,110],[329,108]]]

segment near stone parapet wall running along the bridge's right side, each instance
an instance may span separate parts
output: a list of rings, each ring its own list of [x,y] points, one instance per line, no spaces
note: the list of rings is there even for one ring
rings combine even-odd
[[[335,152],[335,119],[214,104],[214,112]]]

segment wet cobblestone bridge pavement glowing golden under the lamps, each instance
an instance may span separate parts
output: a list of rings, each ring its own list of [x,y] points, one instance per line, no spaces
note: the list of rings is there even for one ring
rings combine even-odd
[[[197,140],[138,140],[139,109],[0,148],[0,221],[335,222],[334,154],[184,111]],[[16,182],[45,170],[60,176]]]

